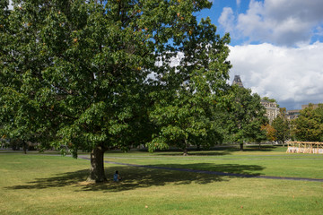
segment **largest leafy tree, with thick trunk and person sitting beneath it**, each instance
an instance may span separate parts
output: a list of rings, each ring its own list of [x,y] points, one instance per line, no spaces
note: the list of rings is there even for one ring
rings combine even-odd
[[[89,180],[96,182],[106,180],[105,150],[149,140],[154,127],[146,95],[156,88],[148,75],[173,74],[156,62],[185,51],[183,41],[197,30],[190,28],[193,13],[211,6],[207,0],[16,0],[9,10],[8,1],[1,3],[1,133],[44,147],[67,145],[75,157],[77,150],[91,151]]]

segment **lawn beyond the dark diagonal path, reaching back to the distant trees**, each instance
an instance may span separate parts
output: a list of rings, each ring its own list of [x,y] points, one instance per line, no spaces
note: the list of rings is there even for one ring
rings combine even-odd
[[[286,147],[266,146],[258,150],[249,146],[248,151],[219,147],[213,151],[191,151],[190,156],[180,156],[180,151],[128,153],[109,151],[106,160],[136,165],[153,165],[165,168],[188,168],[256,176],[323,178],[323,155],[285,153]],[[231,152],[228,152],[230,151]],[[215,153],[215,155],[211,155]],[[128,156],[127,156],[128,155]]]

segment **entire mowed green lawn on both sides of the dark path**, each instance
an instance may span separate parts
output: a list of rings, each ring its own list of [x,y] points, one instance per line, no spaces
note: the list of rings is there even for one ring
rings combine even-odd
[[[0,153],[0,214],[322,214],[323,183],[216,176],[162,168],[255,176],[323,178],[323,155],[282,147],[148,153],[112,151],[109,182],[88,184],[90,161],[49,154]],[[82,157],[88,157],[83,154]],[[118,170],[122,182],[111,178]]]

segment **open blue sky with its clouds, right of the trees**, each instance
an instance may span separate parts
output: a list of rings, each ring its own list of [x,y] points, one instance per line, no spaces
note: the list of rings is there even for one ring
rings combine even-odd
[[[323,103],[322,0],[214,0],[196,15],[230,32],[231,81],[287,109]]]

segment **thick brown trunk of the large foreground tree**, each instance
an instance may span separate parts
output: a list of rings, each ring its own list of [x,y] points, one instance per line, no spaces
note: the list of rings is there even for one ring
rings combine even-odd
[[[87,181],[89,182],[104,182],[107,181],[107,177],[104,173],[104,150],[102,147],[97,146],[91,152],[91,168],[90,176]]]

